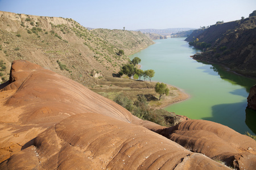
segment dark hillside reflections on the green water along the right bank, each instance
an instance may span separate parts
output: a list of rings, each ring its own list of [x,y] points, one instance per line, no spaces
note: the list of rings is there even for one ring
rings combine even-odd
[[[202,61],[197,61],[200,63],[203,63],[204,65],[211,65],[209,68],[210,70],[213,70],[214,73],[217,73],[221,79],[226,80],[227,82],[231,84],[237,84],[242,86],[243,88],[236,89],[233,91],[230,91],[230,94],[233,95],[238,95],[242,96],[245,99],[247,98],[248,94],[244,92],[244,89],[246,90],[247,93],[250,92],[250,88],[254,86],[256,83],[256,80],[253,78],[247,78],[242,75],[235,74],[231,71],[226,71],[225,68],[221,65],[216,65],[216,64],[209,64],[206,62]],[[203,69],[205,73],[214,75],[212,71],[208,70],[207,67],[197,67],[198,69]],[[233,126],[236,128],[233,128],[236,131],[246,131],[246,128],[243,128],[240,126],[240,121],[241,118],[242,120],[245,121],[246,125],[248,128],[253,131],[254,134],[256,134],[256,111],[252,109],[248,109],[247,107],[247,100],[244,100],[241,103],[232,103],[232,104],[219,104],[219,105],[214,105],[212,107],[212,115],[213,117],[205,117],[203,118],[204,120],[209,120],[209,121],[214,121],[214,122],[219,122],[220,124],[227,125],[227,126],[232,126],[232,124],[237,124],[237,126]],[[237,109],[236,109],[237,108]],[[245,114],[244,116],[241,117],[241,109],[240,108],[245,108]],[[232,112],[230,112],[232,111]],[[236,112],[237,111],[237,112]],[[222,114],[225,112],[225,115]],[[229,121],[227,122],[226,119]]]

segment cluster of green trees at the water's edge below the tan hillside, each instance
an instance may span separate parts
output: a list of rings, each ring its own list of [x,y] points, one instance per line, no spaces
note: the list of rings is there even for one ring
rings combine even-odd
[[[119,71],[118,74],[120,76],[125,74],[125,75],[129,76],[130,79],[131,79],[131,76],[134,76],[135,74],[137,74],[139,77],[139,80],[141,80],[141,78],[143,76],[144,80],[146,80],[148,78],[151,82],[152,77],[155,76],[155,71],[151,70],[151,69],[145,70],[145,71],[143,71],[141,69],[137,69],[136,65],[138,65],[138,63],[140,63],[140,62],[141,62],[141,58],[139,58],[139,57],[133,58],[133,60],[130,63],[128,63],[122,67],[122,69]]]

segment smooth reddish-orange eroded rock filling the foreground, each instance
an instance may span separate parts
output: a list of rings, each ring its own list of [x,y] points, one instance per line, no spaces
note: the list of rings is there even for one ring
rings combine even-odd
[[[81,84],[14,61],[0,99],[0,169],[237,169],[256,142],[210,121],[143,121]]]

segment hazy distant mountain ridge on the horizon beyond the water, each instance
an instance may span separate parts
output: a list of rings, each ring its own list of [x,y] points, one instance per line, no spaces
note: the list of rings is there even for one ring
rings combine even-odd
[[[149,32],[149,33],[157,33],[163,36],[171,35],[172,33],[177,33],[181,31],[188,31],[191,29],[197,29],[197,28],[167,28],[167,29],[137,29],[134,31],[141,31],[143,33]]]

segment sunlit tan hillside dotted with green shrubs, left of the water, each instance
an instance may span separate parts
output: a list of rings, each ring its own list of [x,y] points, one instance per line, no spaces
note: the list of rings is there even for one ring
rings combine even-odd
[[[93,29],[72,19],[0,11],[1,78],[14,59],[26,59],[90,86],[97,76],[112,75],[128,55],[154,44],[141,32]],[[118,54],[124,50],[125,56]],[[3,67],[2,67],[3,66]],[[1,80],[0,80],[1,81]]]

